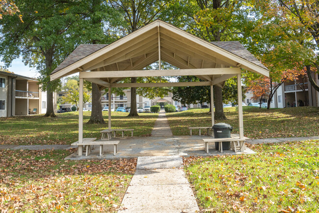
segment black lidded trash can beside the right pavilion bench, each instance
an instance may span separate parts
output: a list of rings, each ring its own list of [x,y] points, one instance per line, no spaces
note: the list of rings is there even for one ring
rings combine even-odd
[[[214,131],[214,138],[230,138],[230,133],[233,127],[228,123],[216,123],[213,125],[212,130]],[[215,149],[219,149],[219,143],[215,142]],[[223,150],[230,149],[230,141],[223,142]]]

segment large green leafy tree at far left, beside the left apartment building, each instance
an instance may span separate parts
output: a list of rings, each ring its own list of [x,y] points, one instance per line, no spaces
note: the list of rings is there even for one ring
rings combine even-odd
[[[50,81],[50,74],[80,42],[83,29],[79,1],[17,0],[24,14],[24,23],[16,16],[0,20],[0,55],[8,66],[13,59],[22,57],[26,65],[36,67],[40,73],[42,91],[47,91],[47,113],[55,117],[53,91],[59,81]],[[76,25],[75,25],[76,24]]]

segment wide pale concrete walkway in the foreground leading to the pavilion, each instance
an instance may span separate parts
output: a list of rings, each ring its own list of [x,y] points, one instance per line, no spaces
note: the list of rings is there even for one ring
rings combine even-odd
[[[118,213],[199,211],[179,156],[138,157],[136,172]]]

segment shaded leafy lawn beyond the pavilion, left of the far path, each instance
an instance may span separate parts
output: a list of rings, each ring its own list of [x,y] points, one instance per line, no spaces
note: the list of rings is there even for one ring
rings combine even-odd
[[[83,137],[101,137],[106,124],[84,124]],[[134,136],[149,136],[158,114],[141,113],[139,117],[127,118],[129,113],[112,112],[112,128],[133,128]],[[83,121],[88,122],[91,112],[84,112]],[[77,141],[79,112],[57,114],[57,118],[43,115],[0,118],[0,144],[72,144]],[[126,132],[131,135],[131,132]]]

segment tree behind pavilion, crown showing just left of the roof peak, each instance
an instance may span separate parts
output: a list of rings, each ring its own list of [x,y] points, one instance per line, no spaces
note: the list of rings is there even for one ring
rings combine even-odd
[[[159,17],[160,11],[165,6],[161,0],[110,0],[110,5],[121,11],[125,24],[123,32],[131,33],[147,25]],[[131,78],[131,83],[136,83],[137,78]],[[129,117],[138,116],[136,107],[136,88],[131,88],[131,111]]]

